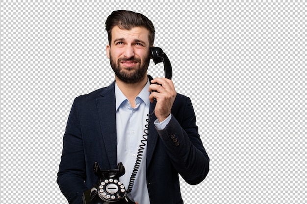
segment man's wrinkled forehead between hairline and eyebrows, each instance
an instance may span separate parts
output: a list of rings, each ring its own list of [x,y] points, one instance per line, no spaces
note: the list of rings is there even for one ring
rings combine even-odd
[[[149,43],[149,30],[145,27],[132,27],[130,30],[127,30],[114,26],[111,30],[111,39],[112,42],[122,39],[127,41],[141,40]]]

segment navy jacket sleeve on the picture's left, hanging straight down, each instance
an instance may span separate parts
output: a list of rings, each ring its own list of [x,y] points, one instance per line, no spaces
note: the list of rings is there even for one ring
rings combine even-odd
[[[87,189],[82,130],[78,115],[77,98],[68,117],[63,137],[63,152],[57,174],[57,183],[70,204],[82,203]]]

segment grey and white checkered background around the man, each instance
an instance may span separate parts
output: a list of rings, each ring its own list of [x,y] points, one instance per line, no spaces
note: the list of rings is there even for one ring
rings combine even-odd
[[[56,184],[67,117],[75,97],[114,80],[104,22],[117,9],[153,21],[194,105],[210,172],[181,179],[184,203],[306,203],[306,6],[0,0],[0,203],[67,203]]]

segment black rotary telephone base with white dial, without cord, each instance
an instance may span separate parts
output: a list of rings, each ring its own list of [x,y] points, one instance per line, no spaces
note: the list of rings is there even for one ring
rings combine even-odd
[[[119,181],[119,177],[125,174],[122,162],[118,163],[117,169],[108,170],[101,170],[98,162],[95,162],[94,172],[98,181],[83,193],[83,204],[135,204]]]

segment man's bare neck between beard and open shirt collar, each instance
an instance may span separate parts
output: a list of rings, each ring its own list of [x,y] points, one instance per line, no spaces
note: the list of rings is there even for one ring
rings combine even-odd
[[[124,93],[124,95],[128,98],[131,107],[135,107],[135,98],[136,96],[143,90],[145,85],[147,84],[148,78],[147,75],[145,75],[144,79],[142,79],[140,82],[127,84],[120,79],[117,78],[115,75],[115,80],[118,88]]]

